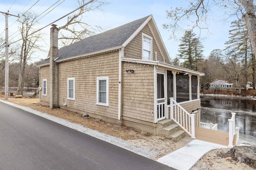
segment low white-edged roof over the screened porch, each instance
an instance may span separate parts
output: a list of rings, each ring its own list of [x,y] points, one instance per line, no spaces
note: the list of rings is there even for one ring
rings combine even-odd
[[[172,64],[164,63],[164,62],[161,62],[161,61],[145,61],[145,60],[141,60],[141,59],[128,59],[128,58],[122,58],[122,61],[129,62],[129,63],[139,63],[139,64],[149,64],[149,65],[162,66],[162,67],[166,67],[167,69],[169,68],[169,69],[177,70],[177,71],[180,71],[180,72],[188,72],[188,73],[191,73],[191,74],[197,74],[199,76],[204,76],[205,75],[202,72],[190,70],[188,68],[174,66]]]

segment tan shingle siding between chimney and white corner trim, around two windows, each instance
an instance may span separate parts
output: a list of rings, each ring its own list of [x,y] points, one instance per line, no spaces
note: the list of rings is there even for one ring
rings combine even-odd
[[[119,51],[59,63],[59,105],[80,113],[118,119]],[[97,77],[109,77],[109,106],[96,105]],[[67,100],[67,79],[75,78],[75,100]]]

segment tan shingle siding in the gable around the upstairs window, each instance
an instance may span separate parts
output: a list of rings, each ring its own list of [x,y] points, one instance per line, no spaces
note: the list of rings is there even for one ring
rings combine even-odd
[[[142,33],[150,35],[153,37],[152,32],[148,24],[132,39],[132,41],[124,48],[124,57],[131,58],[131,59],[142,59]],[[157,60],[164,62],[162,54],[156,44],[156,41],[153,37],[153,55],[152,58],[155,60],[155,51],[157,52]]]

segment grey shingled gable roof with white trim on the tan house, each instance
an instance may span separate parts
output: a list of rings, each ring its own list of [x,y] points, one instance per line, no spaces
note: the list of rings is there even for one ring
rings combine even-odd
[[[125,47],[147,23],[149,23],[150,28],[153,30],[152,33],[158,46],[160,45],[159,48],[161,53],[163,53],[162,56],[166,57],[165,59],[169,59],[156,23],[152,15],[150,15],[62,47],[59,49],[58,58],[55,61],[61,62]],[[43,66],[48,63],[49,59],[47,58],[38,63],[38,66]]]

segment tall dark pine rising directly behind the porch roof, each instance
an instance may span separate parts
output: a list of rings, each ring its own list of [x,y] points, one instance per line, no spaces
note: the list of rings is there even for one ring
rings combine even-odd
[[[191,70],[198,70],[198,65],[202,60],[203,45],[196,34],[190,30],[185,31],[183,37],[180,39],[181,44],[178,56],[184,59],[184,67]]]

